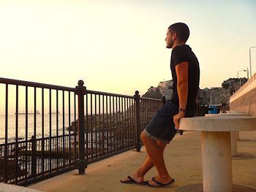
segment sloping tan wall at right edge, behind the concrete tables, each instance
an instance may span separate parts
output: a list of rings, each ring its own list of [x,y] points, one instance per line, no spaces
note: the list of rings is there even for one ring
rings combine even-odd
[[[230,111],[248,112],[256,116],[256,73],[230,97]]]

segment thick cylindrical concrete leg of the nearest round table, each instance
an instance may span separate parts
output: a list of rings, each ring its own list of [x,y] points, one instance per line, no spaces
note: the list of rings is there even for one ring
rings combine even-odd
[[[203,191],[231,192],[230,132],[202,131]]]

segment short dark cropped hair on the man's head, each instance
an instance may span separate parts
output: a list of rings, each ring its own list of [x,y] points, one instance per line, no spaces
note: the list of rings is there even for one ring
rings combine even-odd
[[[180,42],[187,42],[189,39],[189,27],[185,23],[174,23],[168,29],[176,33]]]

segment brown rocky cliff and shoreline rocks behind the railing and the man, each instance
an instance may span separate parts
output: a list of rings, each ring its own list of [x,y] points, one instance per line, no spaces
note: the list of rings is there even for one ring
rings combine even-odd
[[[240,82],[241,85],[243,85],[246,82],[246,78],[236,79],[236,78],[230,78],[229,80],[225,80],[222,82],[222,87],[220,88],[204,88],[200,89],[197,94],[197,103],[200,105],[211,105],[211,104],[217,104],[217,105],[229,105],[229,99],[230,96],[240,88]],[[173,80],[167,80],[164,82],[159,82],[159,85],[157,85],[156,88],[151,86],[151,88],[148,88],[148,91],[142,96],[144,98],[153,98],[153,99],[162,99],[163,96],[165,96],[166,100],[170,100],[170,96],[173,93]],[[143,100],[141,102],[140,106],[140,115],[142,117],[144,116],[150,116],[152,117],[154,115],[154,112],[157,109],[150,108],[151,105],[148,105],[146,103],[146,100]],[[89,132],[94,131],[111,131],[110,137],[117,138],[118,135],[122,134],[128,134],[128,137],[133,137],[135,132],[129,131],[129,127],[135,126],[134,122],[131,121],[132,117],[135,116],[135,106],[130,106],[127,111],[124,112],[113,112],[110,114],[105,114],[104,116],[102,114],[97,115],[88,115],[85,116],[84,123],[86,124],[87,130]],[[148,118],[150,120],[150,118]],[[146,125],[147,122],[144,124]],[[111,130],[108,130],[108,127],[111,127]],[[78,129],[78,120],[75,122],[72,122],[72,124],[69,126],[71,131],[74,131],[75,129]],[[122,131],[122,132],[120,132]],[[102,136],[104,137],[104,136]]]

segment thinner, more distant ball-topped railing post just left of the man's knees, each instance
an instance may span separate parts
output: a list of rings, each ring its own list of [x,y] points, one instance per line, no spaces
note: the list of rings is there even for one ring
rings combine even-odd
[[[140,95],[139,91],[135,91],[135,135],[136,150],[140,151]]]

